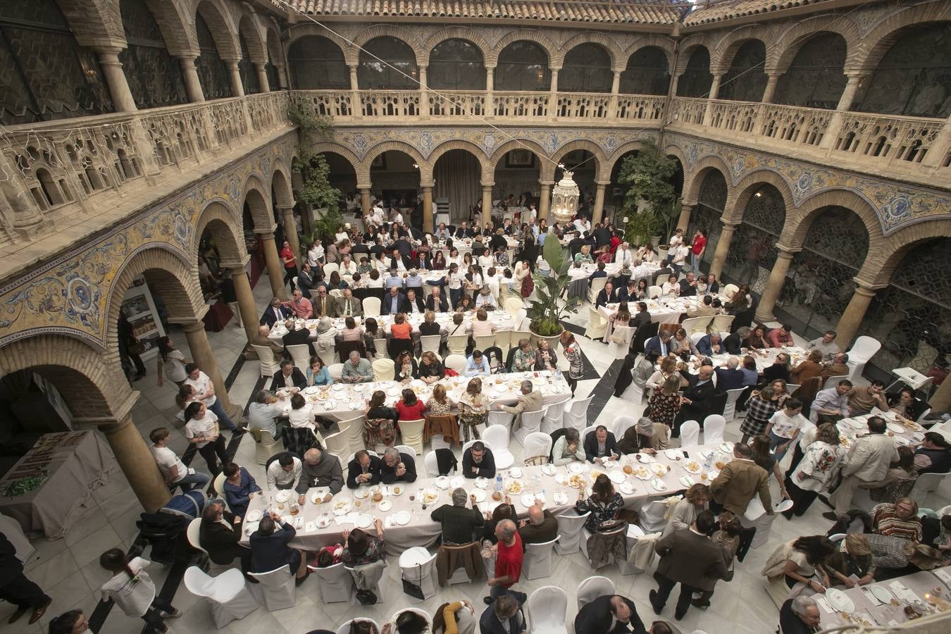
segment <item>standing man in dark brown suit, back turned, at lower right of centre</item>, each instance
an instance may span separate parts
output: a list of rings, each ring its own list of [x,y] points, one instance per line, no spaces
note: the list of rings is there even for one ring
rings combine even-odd
[[[673,618],[680,621],[687,614],[696,588],[708,586],[710,580],[726,578],[723,548],[707,536],[715,523],[713,513],[701,511],[690,528],[674,530],[654,545],[661,557],[654,575],[658,588],[650,590],[650,605],[655,614],[661,613],[670,590],[679,583],[680,597]]]

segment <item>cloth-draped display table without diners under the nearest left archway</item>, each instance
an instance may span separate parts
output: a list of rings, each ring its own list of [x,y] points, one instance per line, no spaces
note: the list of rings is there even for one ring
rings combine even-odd
[[[92,491],[117,470],[112,451],[95,432],[45,433],[0,479],[0,513],[28,535],[42,531],[47,539],[59,539],[86,512]]]

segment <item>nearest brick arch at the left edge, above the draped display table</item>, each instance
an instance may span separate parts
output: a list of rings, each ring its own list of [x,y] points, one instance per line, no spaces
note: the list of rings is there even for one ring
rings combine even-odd
[[[116,419],[131,409],[135,393],[122,374],[118,353],[114,363],[107,358],[65,334],[23,336],[0,348],[0,376],[31,370],[56,387],[74,415]]]

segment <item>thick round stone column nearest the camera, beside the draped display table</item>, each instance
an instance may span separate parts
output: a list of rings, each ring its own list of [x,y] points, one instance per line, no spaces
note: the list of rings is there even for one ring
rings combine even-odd
[[[132,492],[139,498],[142,508],[154,513],[164,507],[171,493],[155,464],[152,452],[148,450],[146,440],[132,423],[132,416],[126,414],[121,420],[100,425],[99,429],[106,434],[119,469],[126,476]]]

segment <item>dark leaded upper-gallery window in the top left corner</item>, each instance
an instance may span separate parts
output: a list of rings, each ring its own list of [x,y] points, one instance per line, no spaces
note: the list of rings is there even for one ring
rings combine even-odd
[[[0,124],[112,111],[95,54],[76,44],[55,0],[0,2]]]

